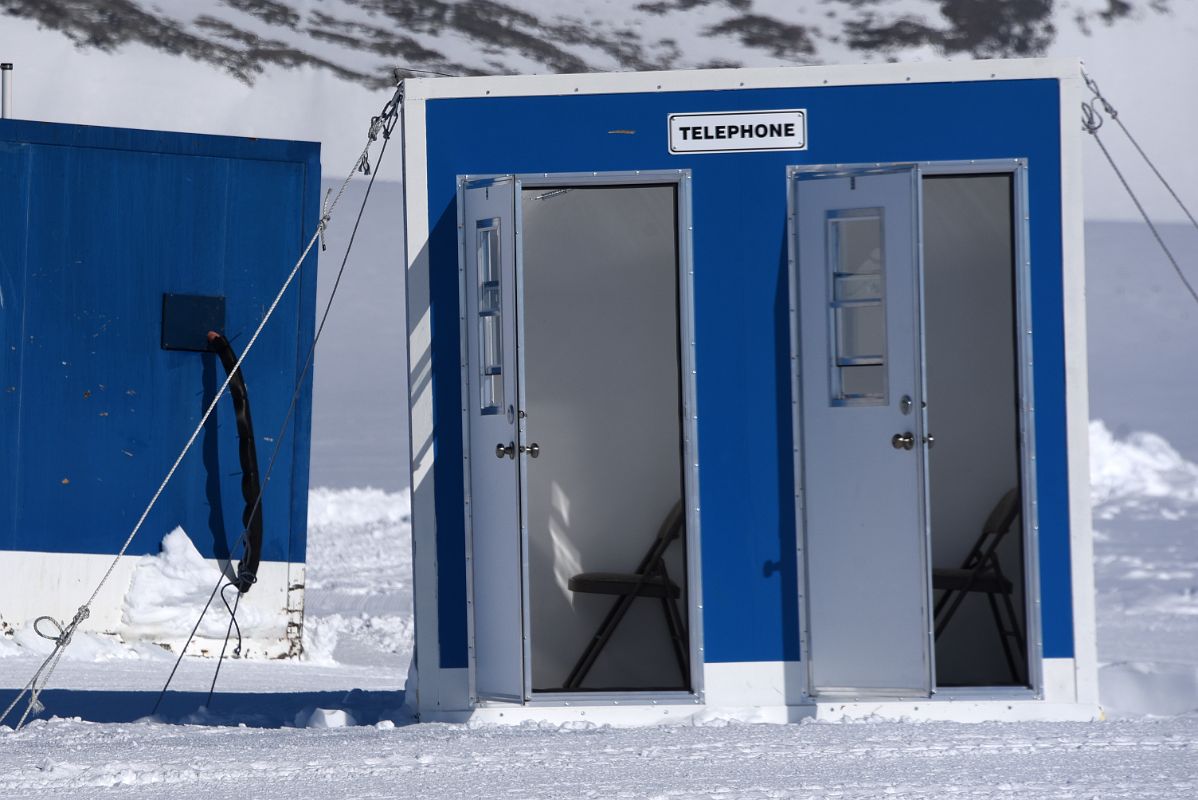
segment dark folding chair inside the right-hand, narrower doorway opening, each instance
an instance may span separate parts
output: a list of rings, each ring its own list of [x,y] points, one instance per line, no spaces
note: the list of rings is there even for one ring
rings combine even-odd
[[[994,628],[998,630],[998,638],[1003,644],[1003,655],[1006,656],[1006,666],[1011,671],[1011,680],[1023,684],[1023,671],[1021,666],[1027,662],[1027,641],[1023,630],[1019,628],[1019,618],[1015,613],[1015,605],[1011,595],[1015,587],[1009,577],[1003,574],[1003,565],[998,558],[998,546],[1010,532],[1015,523],[1015,517],[1019,515],[1019,490],[1012,489],[998,501],[986,525],[982,526],[981,535],[974,543],[973,550],[961,564],[961,569],[933,569],[932,589],[942,590],[944,594],[936,602],[936,638],[948,628],[952,616],[964,602],[970,593],[982,593],[990,601],[990,612],[994,618]],[[1015,649],[1019,654],[1016,662],[1015,653],[1011,649],[1011,641],[1015,641]]]

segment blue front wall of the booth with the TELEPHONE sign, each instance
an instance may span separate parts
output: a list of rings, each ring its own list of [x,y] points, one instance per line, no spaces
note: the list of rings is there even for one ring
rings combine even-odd
[[[667,153],[667,114],[783,108],[807,109],[809,150]],[[441,666],[467,665],[456,175],[692,170],[706,660],[779,661],[799,655],[786,166],[1014,157],[1029,159],[1043,651],[1072,656],[1059,125],[1054,80],[430,101]]]

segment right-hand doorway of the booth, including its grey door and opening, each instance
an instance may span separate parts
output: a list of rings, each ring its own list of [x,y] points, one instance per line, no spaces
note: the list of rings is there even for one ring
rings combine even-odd
[[[812,696],[1034,685],[1025,166],[963,166],[791,170]]]

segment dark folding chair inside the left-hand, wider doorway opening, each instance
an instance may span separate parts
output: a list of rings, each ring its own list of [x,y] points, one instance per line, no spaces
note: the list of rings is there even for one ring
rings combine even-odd
[[[665,552],[670,545],[682,535],[684,525],[682,502],[674,505],[665,521],[658,529],[658,535],[645,553],[641,564],[635,572],[581,572],[569,581],[570,592],[577,594],[607,594],[618,599],[611,606],[611,611],[599,624],[595,635],[591,637],[587,649],[582,651],[574,669],[565,679],[565,689],[579,689],[586,680],[587,673],[594,666],[595,660],[603,653],[604,647],[611,641],[612,635],[621,620],[633,607],[633,601],[637,598],[651,598],[661,601],[661,611],[666,617],[666,628],[670,629],[670,641],[673,643],[674,659],[678,661],[678,671],[682,673],[683,683],[689,681],[690,667],[686,656],[686,625],[682,613],[678,611],[678,598],[682,589],[670,580],[666,571]]]

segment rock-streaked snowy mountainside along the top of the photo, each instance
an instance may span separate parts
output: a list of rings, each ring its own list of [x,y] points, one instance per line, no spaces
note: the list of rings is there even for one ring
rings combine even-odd
[[[670,69],[940,55],[1028,56],[1168,0],[4,0],[83,48],[143,43],[252,83],[313,66],[367,86],[397,63],[450,74]]]

